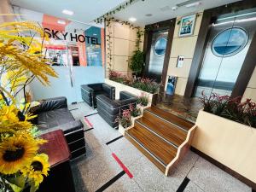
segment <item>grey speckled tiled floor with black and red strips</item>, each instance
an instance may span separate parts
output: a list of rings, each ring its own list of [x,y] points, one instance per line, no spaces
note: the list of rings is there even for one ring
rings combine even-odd
[[[78,108],[78,109],[75,109]],[[81,119],[84,116],[96,113],[84,102],[70,106],[73,116]],[[72,161],[73,177],[77,192],[89,192],[101,189],[106,183],[123,172],[122,168],[113,159],[112,153],[119,157],[133,175],[127,174],[119,177],[114,183],[109,184],[104,191],[119,192],[150,192],[170,191],[175,192],[183,183],[185,177],[189,183],[183,191],[187,192],[249,192],[247,185],[231,177],[207,160],[189,151],[183,161],[166,177],[154,164],[137,150],[125,137],[113,143],[108,143],[119,137],[119,131],[111,128],[98,114],[87,117],[93,129],[85,131],[86,157]],[[84,123],[84,129],[88,126]],[[102,190],[98,190],[102,191]]]

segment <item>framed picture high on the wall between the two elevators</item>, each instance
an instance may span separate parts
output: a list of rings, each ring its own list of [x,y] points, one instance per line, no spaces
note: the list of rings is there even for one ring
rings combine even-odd
[[[179,37],[193,35],[196,15],[184,16],[180,22]]]

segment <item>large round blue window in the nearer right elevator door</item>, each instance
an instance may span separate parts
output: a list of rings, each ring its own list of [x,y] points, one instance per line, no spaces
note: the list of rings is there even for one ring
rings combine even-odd
[[[233,27],[219,32],[212,42],[212,53],[216,56],[236,55],[245,47],[248,41],[247,32],[239,27]]]

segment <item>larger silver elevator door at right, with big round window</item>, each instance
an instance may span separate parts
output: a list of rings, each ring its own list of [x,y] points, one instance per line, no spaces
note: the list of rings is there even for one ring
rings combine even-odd
[[[230,96],[256,29],[256,12],[222,16],[212,26],[195,96]]]

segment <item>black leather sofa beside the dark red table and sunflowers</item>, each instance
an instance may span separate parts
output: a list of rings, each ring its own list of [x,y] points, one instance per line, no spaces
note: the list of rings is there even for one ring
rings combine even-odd
[[[80,120],[73,118],[67,108],[67,98],[61,96],[40,102],[39,106],[31,110],[32,113],[38,114],[32,123],[38,125],[42,134],[61,129],[66,137],[72,159],[85,154],[84,125]]]

